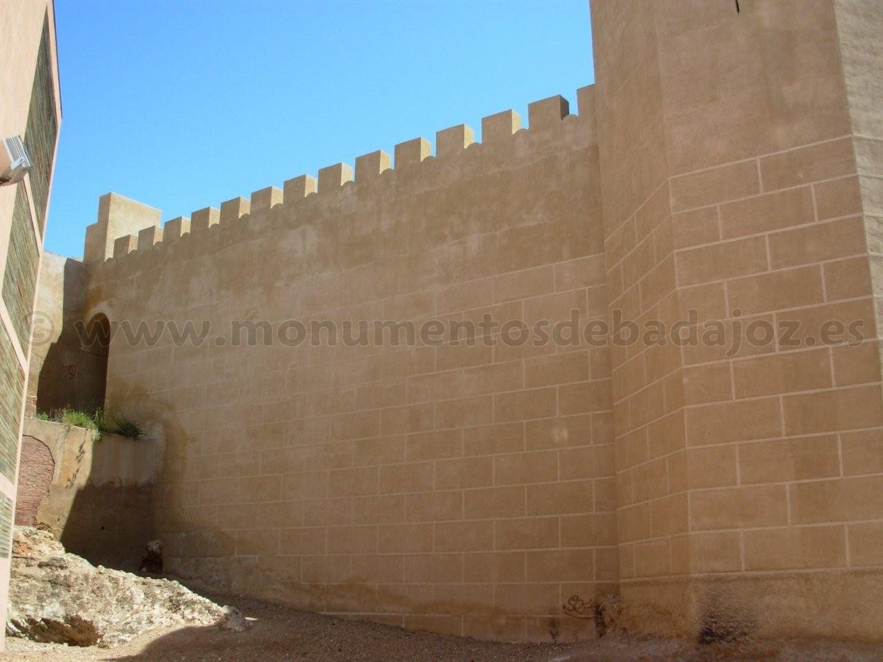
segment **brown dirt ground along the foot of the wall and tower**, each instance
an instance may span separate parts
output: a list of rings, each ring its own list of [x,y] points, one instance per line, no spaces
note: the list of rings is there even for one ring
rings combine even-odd
[[[883,646],[837,642],[766,642],[705,646],[608,635],[570,644],[479,642],[407,632],[362,621],[300,612],[258,600],[212,596],[237,606],[253,624],[155,631],[115,649],[68,648],[7,638],[0,662],[879,662]]]

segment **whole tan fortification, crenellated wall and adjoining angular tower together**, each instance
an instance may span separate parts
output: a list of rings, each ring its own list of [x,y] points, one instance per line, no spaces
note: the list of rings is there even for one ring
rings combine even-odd
[[[163,227],[102,198],[85,319],[212,325],[109,350],[108,406],[165,440],[175,571],[473,636],[592,636],[562,606],[616,593],[644,631],[879,639],[883,9],[595,0],[592,29],[576,116],[553,97],[526,131],[507,111]],[[573,310],[800,327],[735,352],[230,343]],[[864,341],[819,343],[826,320]]]

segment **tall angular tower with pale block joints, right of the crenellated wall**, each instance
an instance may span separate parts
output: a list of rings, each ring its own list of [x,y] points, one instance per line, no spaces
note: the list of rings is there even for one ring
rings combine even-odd
[[[624,622],[875,637],[883,14],[738,5],[592,2],[611,309],[774,329],[613,351]],[[819,346],[828,320],[864,340]]]

